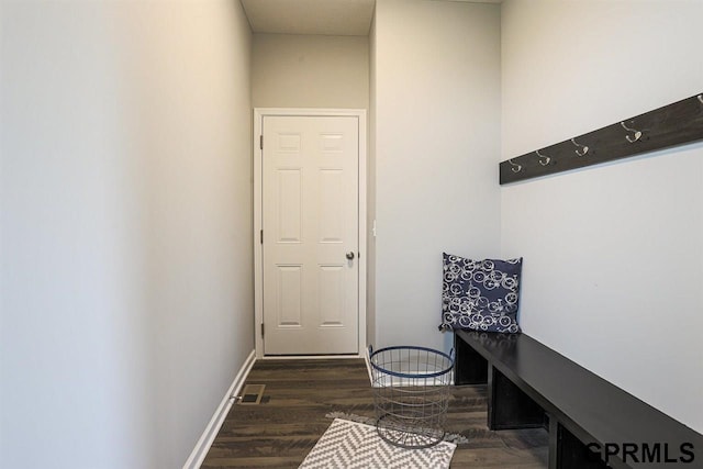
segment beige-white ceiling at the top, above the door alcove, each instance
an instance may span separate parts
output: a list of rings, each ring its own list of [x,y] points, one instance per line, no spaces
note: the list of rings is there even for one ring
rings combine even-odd
[[[252,31],[268,34],[366,36],[376,0],[241,0]],[[501,3],[503,0],[435,0]]]

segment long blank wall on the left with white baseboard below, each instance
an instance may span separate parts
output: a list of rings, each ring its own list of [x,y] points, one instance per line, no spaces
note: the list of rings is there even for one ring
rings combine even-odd
[[[3,2],[0,466],[174,468],[253,349],[238,2]]]

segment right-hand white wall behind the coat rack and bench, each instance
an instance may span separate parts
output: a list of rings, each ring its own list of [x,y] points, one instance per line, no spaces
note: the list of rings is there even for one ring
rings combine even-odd
[[[503,148],[518,156],[703,91],[703,3],[502,8]],[[703,431],[703,145],[503,187],[524,330]]]

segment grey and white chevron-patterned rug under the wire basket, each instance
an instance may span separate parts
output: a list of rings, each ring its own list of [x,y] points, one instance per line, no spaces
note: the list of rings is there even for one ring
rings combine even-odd
[[[423,449],[386,443],[376,427],[335,418],[300,469],[447,469],[456,445],[440,442]]]

